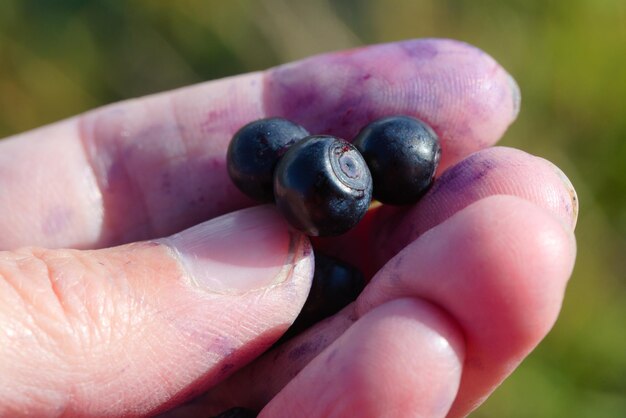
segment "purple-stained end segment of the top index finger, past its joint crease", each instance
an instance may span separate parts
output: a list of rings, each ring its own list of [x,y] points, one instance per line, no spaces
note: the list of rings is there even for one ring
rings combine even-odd
[[[406,41],[311,58],[278,67],[266,83],[267,112],[315,133],[350,140],[378,117],[416,116],[442,137],[444,166],[493,143],[511,120],[502,118],[503,108],[517,112],[508,74],[456,41]],[[493,129],[481,131],[485,125]]]

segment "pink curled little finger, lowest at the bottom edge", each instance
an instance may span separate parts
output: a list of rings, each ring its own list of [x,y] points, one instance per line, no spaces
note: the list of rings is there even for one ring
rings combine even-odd
[[[360,318],[260,416],[445,417],[462,364],[461,334],[445,314],[395,300]]]

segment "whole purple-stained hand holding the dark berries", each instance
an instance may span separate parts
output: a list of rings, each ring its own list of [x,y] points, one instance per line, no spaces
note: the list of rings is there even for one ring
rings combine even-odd
[[[207,390],[169,415],[467,415],[549,331],[575,257],[563,174],[487,148],[518,106],[515,83],[481,51],[408,41],[0,142],[0,415],[154,414]],[[371,282],[261,355],[304,303],[312,253],[232,186],[232,133],[280,115],[351,138],[388,114],[434,127],[440,178],[417,205],[316,240]]]

